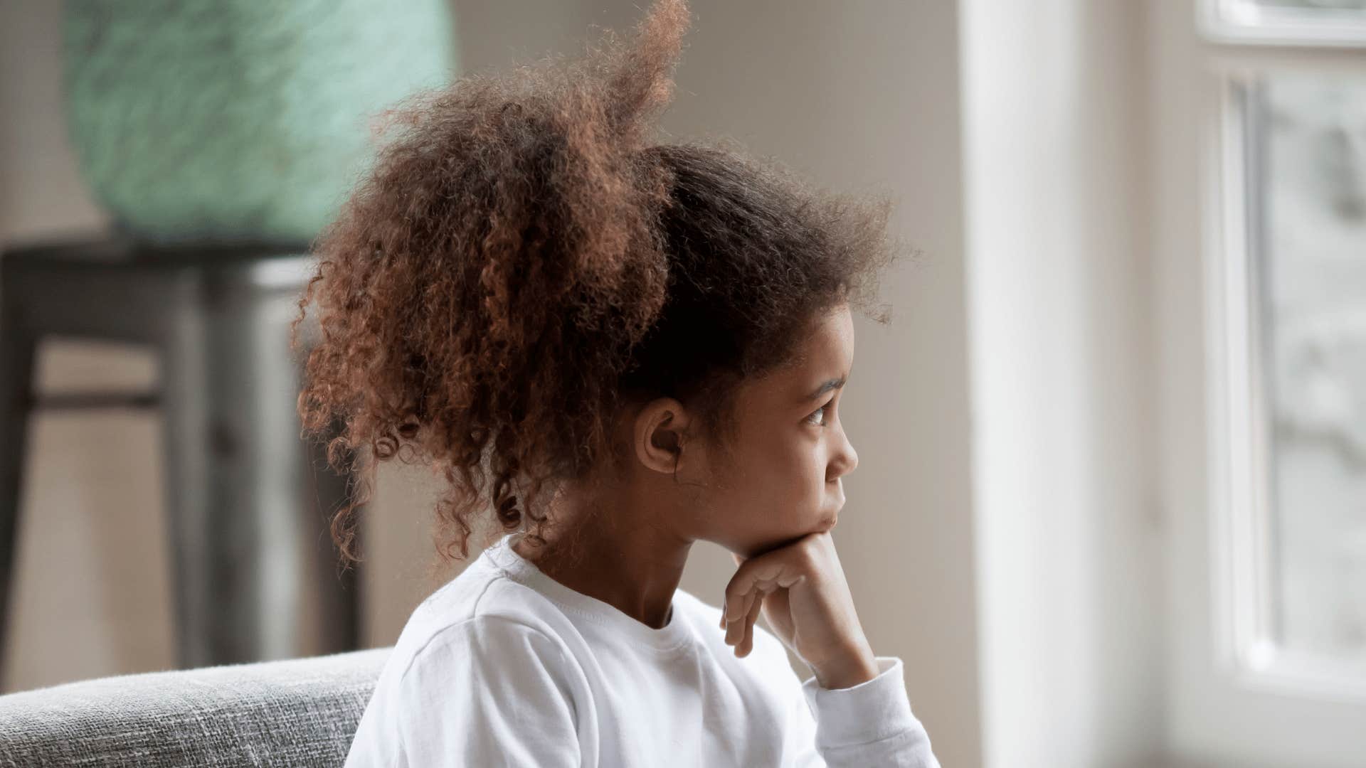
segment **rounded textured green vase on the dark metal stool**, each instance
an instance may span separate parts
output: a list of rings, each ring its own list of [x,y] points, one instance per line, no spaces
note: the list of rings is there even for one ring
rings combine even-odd
[[[372,119],[455,77],[444,0],[67,0],[85,179],[150,242],[307,242],[366,169]]]

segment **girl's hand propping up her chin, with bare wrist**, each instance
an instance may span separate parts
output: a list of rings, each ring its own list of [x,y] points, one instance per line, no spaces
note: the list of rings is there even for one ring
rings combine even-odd
[[[829,532],[753,558],[732,556],[739,570],[725,588],[721,629],[736,656],[753,650],[762,608],[769,627],[811,667],[821,687],[850,687],[877,676]]]

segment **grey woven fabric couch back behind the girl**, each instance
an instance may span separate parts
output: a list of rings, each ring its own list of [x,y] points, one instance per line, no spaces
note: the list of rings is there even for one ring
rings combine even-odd
[[[342,765],[389,648],[0,696],[0,767]]]

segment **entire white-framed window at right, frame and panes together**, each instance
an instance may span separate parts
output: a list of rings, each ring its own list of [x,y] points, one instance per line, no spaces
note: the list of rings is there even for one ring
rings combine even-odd
[[[1366,754],[1366,0],[1153,3],[1177,760]]]

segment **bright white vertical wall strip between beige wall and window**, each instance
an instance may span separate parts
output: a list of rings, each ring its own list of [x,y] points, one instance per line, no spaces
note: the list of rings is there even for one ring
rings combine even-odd
[[[962,3],[986,765],[1161,749],[1143,23]]]

